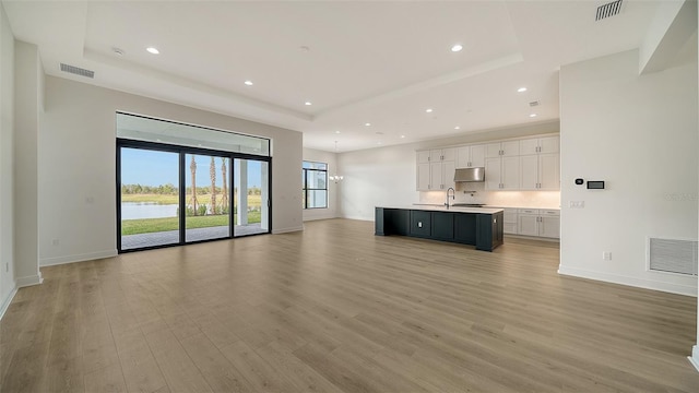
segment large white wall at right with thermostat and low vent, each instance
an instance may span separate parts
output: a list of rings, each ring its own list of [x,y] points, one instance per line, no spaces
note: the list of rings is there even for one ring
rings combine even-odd
[[[696,295],[696,277],[647,271],[645,245],[697,239],[697,62],[639,76],[638,61],[635,50],[561,67],[559,272]]]

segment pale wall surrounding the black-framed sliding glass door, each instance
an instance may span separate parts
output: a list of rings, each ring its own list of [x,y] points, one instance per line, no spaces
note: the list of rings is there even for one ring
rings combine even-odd
[[[38,139],[42,265],[116,252],[116,111],[271,138],[272,230],[303,229],[301,133],[54,76],[46,79],[45,99]]]

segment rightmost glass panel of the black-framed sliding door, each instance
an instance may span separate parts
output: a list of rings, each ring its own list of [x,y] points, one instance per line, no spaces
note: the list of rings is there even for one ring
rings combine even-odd
[[[269,163],[234,160],[234,234],[246,236],[270,233]]]

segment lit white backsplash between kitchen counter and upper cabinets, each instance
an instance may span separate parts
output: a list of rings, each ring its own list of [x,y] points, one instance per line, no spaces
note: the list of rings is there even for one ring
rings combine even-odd
[[[498,207],[560,207],[560,191],[485,191],[484,182],[457,183],[457,198],[452,203],[484,203]],[[475,191],[473,196],[464,191]],[[419,203],[442,204],[447,191],[419,192]]]

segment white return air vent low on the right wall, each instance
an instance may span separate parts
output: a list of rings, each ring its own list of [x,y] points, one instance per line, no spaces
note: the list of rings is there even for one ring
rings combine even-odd
[[[697,241],[648,238],[651,271],[697,275]]]

